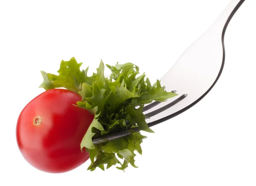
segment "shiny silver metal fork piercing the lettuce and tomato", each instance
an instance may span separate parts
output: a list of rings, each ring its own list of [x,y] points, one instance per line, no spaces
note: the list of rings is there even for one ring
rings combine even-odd
[[[180,56],[174,66],[160,78],[166,90],[178,94],[166,102],[153,102],[145,105],[143,113],[150,117],[152,127],[197,104],[216,84],[224,67],[224,35],[230,20],[245,0],[231,0],[226,9],[210,28]],[[177,81],[178,80],[178,81]],[[112,139],[125,137],[138,128],[93,139],[99,144]]]

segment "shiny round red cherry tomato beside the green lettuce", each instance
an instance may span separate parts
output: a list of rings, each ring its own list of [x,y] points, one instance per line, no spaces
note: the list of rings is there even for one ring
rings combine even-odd
[[[94,116],[73,104],[81,96],[65,89],[51,89],[35,97],[17,120],[17,145],[36,169],[62,173],[89,159],[80,143]]]

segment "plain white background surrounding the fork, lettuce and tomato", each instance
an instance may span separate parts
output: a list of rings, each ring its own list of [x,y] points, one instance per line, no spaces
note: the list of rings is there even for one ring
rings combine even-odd
[[[44,90],[40,70],[56,73],[75,57],[82,68],[132,62],[160,78],[208,29],[230,0],[1,0],[0,185],[255,186],[255,0],[246,0],[225,36],[226,61],[211,92],[155,126],[139,168],[64,174],[30,166],[15,138],[23,107]]]

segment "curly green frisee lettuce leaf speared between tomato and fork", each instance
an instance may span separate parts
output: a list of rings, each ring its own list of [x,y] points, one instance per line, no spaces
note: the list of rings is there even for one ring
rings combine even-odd
[[[59,75],[41,71],[44,81],[40,87],[45,90],[62,87],[79,93],[81,101],[75,106],[94,115],[80,144],[81,151],[85,149],[90,154],[88,170],[93,171],[97,167],[105,170],[112,166],[125,170],[129,164],[137,168],[134,157],[136,151],[142,154],[141,143],[146,138],[140,132],[97,145],[92,139],[134,127],[153,133],[145,121],[144,104],[153,100],[164,102],[177,94],[167,92],[159,80],[152,85],[148,78],[145,79],[145,73],[139,76],[140,68],[132,63],[106,64],[111,71],[110,76],[105,76],[102,60],[92,76],[87,76],[88,67],[80,70],[81,64],[73,57],[70,61],[61,61],[57,71]]]

